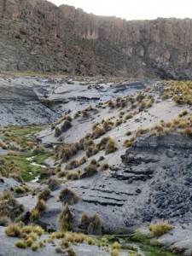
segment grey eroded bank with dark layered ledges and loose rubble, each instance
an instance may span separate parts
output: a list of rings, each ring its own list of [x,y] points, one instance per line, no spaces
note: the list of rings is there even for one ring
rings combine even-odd
[[[65,184],[79,196],[79,202],[70,207],[75,229],[79,229],[83,212],[89,216],[97,212],[105,231],[111,232],[156,219],[191,222],[192,143],[188,137],[139,137],[122,161],[122,166]],[[58,195],[56,191],[54,196]],[[61,202],[53,197],[47,209],[41,220],[55,227],[55,212],[61,211]]]

